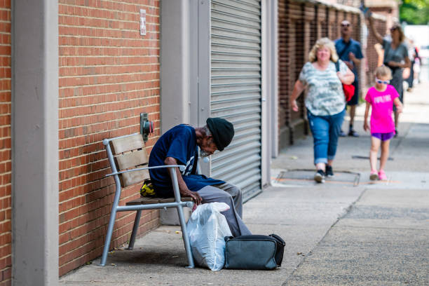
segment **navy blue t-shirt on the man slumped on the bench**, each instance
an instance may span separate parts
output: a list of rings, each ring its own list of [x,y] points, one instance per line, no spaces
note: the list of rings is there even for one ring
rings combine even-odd
[[[165,165],[165,158],[172,157],[177,160],[178,165],[186,166],[182,172],[182,178],[189,190],[199,191],[205,186],[224,184],[224,181],[219,179],[193,174],[196,156],[195,129],[190,125],[181,124],[171,128],[158,139],[149,157],[149,167]],[[170,174],[167,168],[151,169],[149,174],[158,196],[173,196]]]

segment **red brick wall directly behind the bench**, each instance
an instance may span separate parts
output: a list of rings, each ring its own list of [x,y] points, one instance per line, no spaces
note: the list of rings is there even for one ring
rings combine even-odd
[[[114,199],[102,139],[139,132],[141,112],[156,127],[147,146],[158,139],[159,12],[159,0],[59,1],[60,275],[102,252]],[[137,198],[139,187],[125,189],[123,200]],[[135,212],[116,217],[111,247],[129,239]],[[140,233],[154,229],[158,211],[144,212],[140,224]]]

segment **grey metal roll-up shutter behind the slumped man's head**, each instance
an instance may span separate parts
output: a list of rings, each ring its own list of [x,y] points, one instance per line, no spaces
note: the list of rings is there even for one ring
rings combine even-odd
[[[261,2],[211,1],[210,116],[236,135],[212,156],[211,176],[236,184],[247,200],[261,191]]]

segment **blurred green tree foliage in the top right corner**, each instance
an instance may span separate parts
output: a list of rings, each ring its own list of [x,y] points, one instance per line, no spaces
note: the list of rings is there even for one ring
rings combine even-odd
[[[411,25],[429,24],[429,0],[403,0],[400,21]]]

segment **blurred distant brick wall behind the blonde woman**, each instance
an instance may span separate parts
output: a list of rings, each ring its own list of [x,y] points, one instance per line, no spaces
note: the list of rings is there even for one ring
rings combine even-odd
[[[289,107],[289,98],[294,83],[298,79],[299,71],[308,60],[308,53],[315,41],[325,36],[332,40],[339,38],[339,25],[344,19],[349,20],[354,27],[353,39],[361,41],[360,14],[358,13],[311,2],[278,1],[278,130],[280,148],[293,144],[296,134],[308,132],[308,130],[298,130],[299,128],[307,128],[304,96],[301,95],[297,100],[301,107],[300,112],[292,112]],[[369,62],[374,62],[373,53],[369,53],[367,57]],[[363,67],[365,65],[361,64],[361,68]],[[361,84],[362,82],[365,83],[365,79],[361,81]],[[303,121],[304,124],[302,124]]]

